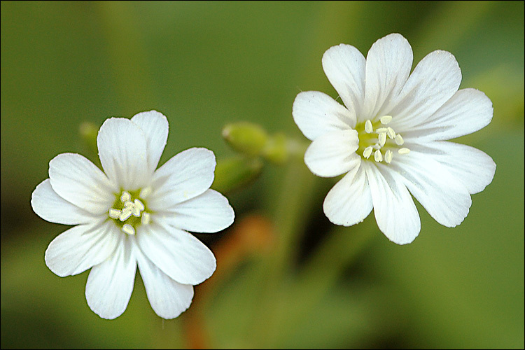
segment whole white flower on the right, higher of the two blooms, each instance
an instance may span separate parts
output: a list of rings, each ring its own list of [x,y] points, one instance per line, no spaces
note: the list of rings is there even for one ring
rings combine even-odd
[[[325,215],[350,226],[373,207],[379,229],[397,244],[421,228],[410,193],[435,221],[454,227],[496,171],[489,155],[444,141],[488,125],[491,100],[458,90],[461,71],[450,52],[430,52],[411,68],[412,48],[400,34],[376,41],[366,59],[337,45],[323,55],[323,69],[346,108],[316,91],[300,92],[293,104],[295,123],[312,141],[304,154],[311,172],[346,173],[326,196]]]

